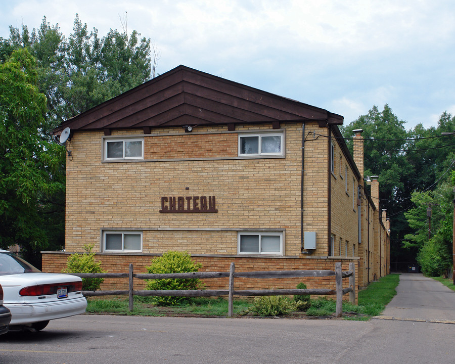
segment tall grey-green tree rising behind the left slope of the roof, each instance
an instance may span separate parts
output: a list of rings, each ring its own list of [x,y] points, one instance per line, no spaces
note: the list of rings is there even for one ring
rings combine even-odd
[[[77,14],[68,38],[44,17],[31,34],[27,26],[21,31],[10,26],[9,41],[38,60],[39,88],[48,98],[51,129],[149,80],[158,56],[150,38],[141,38],[135,30],[128,35],[126,29],[111,29],[100,38]]]

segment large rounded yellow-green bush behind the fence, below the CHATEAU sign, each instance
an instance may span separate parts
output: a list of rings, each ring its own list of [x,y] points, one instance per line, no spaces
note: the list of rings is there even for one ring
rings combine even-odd
[[[191,260],[191,255],[185,252],[168,251],[162,257],[152,259],[152,264],[147,266],[147,272],[152,274],[197,272],[202,267],[201,263]],[[199,279],[160,279],[146,280],[148,290],[196,290],[203,287]],[[178,305],[188,301],[189,297],[153,297],[152,302],[159,306]]]

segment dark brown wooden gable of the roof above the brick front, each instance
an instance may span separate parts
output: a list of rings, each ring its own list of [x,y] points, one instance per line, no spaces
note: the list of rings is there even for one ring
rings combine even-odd
[[[64,121],[54,133],[183,125],[234,125],[343,117],[195,69],[178,66]],[[150,132],[150,131],[149,131]]]

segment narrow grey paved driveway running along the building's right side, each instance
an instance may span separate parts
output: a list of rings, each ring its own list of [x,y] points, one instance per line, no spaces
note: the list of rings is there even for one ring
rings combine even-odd
[[[419,273],[403,273],[397,294],[378,318],[455,324],[455,292]]]

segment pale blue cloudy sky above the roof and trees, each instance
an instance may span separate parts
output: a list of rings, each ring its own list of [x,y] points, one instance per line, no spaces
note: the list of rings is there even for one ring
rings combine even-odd
[[[159,51],[158,74],[185,65],[345,125],[374,105],[406,129],[455,114],[453,0],[0,0],[0,36],[45,16],[67,37],[76,14],[100,37],[126,17]]]

